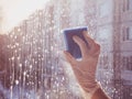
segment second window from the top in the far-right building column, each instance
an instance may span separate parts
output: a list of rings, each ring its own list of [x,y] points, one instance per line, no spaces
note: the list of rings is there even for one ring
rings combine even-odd
[[[132,41],[132,26],[123,29],[123,41]]]

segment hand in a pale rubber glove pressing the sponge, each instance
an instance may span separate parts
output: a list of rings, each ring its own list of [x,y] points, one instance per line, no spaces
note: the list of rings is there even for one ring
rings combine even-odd
[[[98,88],[96,81],[96,69],[98,64],[98,57],[100,54],[100,45],[97,44],[85,31],[84,36],[88,42],[89,47],[78,36],[74,36],[74,41],[79,45],[82,58],[81,61],[75,59],[68,52],[64,52],[67,62],[70,64],[75,77],[78,80],[79,86],[87,94],[94,92]]]

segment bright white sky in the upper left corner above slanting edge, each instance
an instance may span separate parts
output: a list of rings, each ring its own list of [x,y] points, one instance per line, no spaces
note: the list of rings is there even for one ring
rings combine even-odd
[[[50,0],[0,0],[2,31],[7,32]],[[2,14],[1,14],[2,13]]]

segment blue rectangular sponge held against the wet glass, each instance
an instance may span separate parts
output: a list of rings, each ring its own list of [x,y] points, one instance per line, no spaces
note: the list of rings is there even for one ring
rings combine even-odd
[[[87,31],[87,26],[66,29],[63,31],[64,37],[65,37],[65,43],[66,43],[66,48],[75,58],[81,58],[81,52],[80,52],[79,46],[74,42],[73,36],[77,35],[86,42],[86,40],[82,35],[82,31]],[[88,45],[87,42],[86,42],[86,44]]]

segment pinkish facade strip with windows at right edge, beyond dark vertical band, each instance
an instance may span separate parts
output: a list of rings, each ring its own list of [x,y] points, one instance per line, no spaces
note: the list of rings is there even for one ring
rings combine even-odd
[[[120,0],[119,0],[120,1]],[[123,98],[132,98],[132,0],[120,1],[120,66]]]

